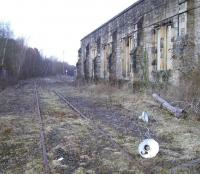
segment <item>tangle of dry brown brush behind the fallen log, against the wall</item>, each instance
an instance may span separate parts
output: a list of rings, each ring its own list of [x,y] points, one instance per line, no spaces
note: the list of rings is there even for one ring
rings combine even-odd
[[[168,86],[162,91],[174,106],[181,107],[189,117],[200,120],[200,71],[194,69],[181,79],[179,87]]]

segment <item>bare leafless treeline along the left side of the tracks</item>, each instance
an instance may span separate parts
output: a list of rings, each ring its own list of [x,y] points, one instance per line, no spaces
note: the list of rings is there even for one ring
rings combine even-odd
[[[0,78],[13,80],[58,74],[74,75],[74,66],[47,58],[30,48],[23,38],[14,39],[9,24],[0,23]]]

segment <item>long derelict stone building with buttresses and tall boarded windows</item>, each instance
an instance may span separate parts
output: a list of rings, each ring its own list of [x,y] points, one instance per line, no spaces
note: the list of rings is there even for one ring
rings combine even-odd
[[[81,40],[77,78],[174,85],[200,61],[200,0],[138,0]]]

